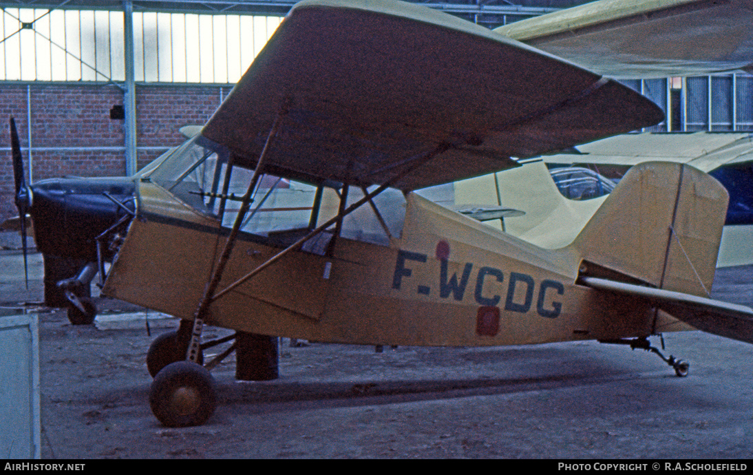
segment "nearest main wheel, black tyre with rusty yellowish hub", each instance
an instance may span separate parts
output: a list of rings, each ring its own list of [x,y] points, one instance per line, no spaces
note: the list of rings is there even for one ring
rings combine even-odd
[[[191,361],[168,364],[151,383],[149,405],[167,427],[202,425],[217,407],[215,379]]]

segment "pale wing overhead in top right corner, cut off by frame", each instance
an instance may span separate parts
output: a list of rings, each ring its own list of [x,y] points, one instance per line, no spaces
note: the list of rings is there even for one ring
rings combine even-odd
[[[613,78],[750,70],[751,0],[600,0],[495,32]]]

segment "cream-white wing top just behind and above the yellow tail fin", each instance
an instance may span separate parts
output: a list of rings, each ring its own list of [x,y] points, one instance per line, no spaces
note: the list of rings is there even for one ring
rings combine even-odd
[[[578,147],[581,154],[554,154],[546,163],[587,163],[633,166],[661,160],[687,163],[711,172],[720,166],[753,161],[753,136],[749,132],[694,132],[626,134]]]

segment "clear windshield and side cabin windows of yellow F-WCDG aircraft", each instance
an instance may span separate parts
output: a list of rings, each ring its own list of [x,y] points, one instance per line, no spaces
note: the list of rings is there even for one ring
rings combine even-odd
[[[155,160],[142,176],[198,212],[221,219],[224,227],[232,227],[254,171],[229,167],[229,157],[223,148],[197,136],[166,154],[161,161]],[[346,194],[346,206],[364,196],[356,187],[350,187]],[[251,209],[240,230],[281,244],[294,242],[337,215],[340,196],[343,196],[341,188],[261,175],[252,192]],[[404,218],[403,194],[386,190],[343,219],[341,236],[389,245],[389,240],[401,233]],[[321,244],[319,251],[322,251]]]

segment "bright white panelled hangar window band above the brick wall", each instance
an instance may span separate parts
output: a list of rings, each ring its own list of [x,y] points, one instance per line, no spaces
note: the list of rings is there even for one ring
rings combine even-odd
[[[251,14],[134,11],[135,80],[234,83],[281,21]],[[4,7],[0,81],[125,81],[124,29],[123,11],[108,6]]]

